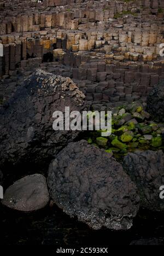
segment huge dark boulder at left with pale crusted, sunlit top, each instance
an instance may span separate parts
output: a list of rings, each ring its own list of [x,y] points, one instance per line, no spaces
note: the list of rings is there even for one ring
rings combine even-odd
[[[44,71],[28,77],[0,110],[0,164],[39,162],[54,156],[79,131],[54,131],[52,114],[84,108],[84,94],[70,78]]]

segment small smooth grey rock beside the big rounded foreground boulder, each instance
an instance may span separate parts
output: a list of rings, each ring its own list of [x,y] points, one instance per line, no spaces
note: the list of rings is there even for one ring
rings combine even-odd
[[[44,208],[49,202],[46,179],[33,174],[19,179],[4,193],[3,205],[14,210],[31,212]]]

